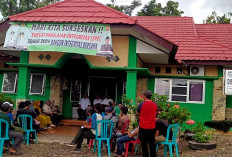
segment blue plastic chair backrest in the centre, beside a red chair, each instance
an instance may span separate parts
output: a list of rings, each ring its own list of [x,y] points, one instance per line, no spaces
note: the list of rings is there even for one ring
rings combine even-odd
[[[101,130],[99,130],[98,126],[101,126]],[[114,123],[111,120],[99,120],[97,121],[96,127],[96,139],[110,139],[112,136]],[[100,132],[100,134],[99,134]],[[98,136],[100,135],[100,136]]]

